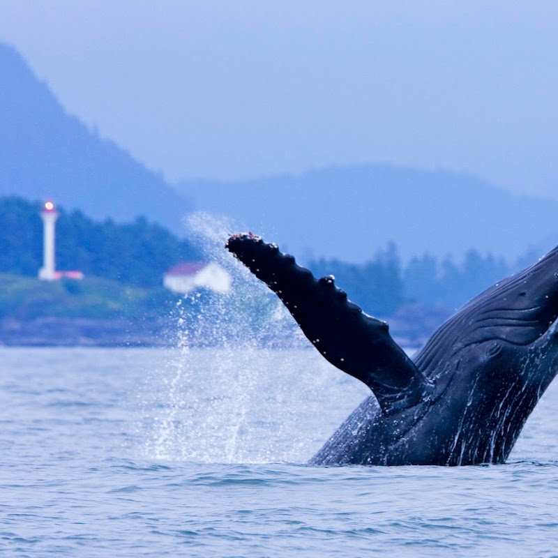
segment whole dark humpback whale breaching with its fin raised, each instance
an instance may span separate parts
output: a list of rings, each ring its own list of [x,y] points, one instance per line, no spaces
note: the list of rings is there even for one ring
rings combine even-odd
[[[386,322],[252,233],[226,247],[325,359],[372,394],[310,465],[504,463],[558,372],[558,247],[469,301],[413,359]]]

